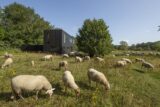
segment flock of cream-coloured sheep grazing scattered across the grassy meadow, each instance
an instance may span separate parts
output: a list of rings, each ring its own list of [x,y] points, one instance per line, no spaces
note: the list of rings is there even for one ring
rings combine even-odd
[[[5,68],[7,66],[10,66],[13,63],[13,55],[12,54],[8,54],[5,53],[4,55],[5,57],[5,62],[2,64],[2,68]],[[69,58],[68,54],[63,54],[62,55],[63,58]],[[52,55],[45,55],[44,57],[42,57],[42,60],[52,60],[53,56]],[[79,57],[79,56],[75,56],[75,62],[82,62],[84,60],[90,60],[90,56],[85,56],[83,58]],[[96,57],[96,60],[100,63],[105,63],[105,60],[103,58],[100,57]],[[154,66],[145,61],[144,59],[141,58],[136,58],[135,62],[141,62],[142,63],[142,67],[145,68],[154,68]],[[34,61],[31,61],[32,66],[35,66]],[[124,67],[127,64],[132,64],[132,61],[130,59],[127,58],[122,58],[121,60],[116,61],[115,66],[116,67]],[[74,80],[74,76],[72,75],[72,73],[67,70],[68,69],[68,62],[63,60],[59,62],[59,69],[61,69],[62,67],[65,68],[65,71],[62,75],[62,81],[65,85],[65,88],[71,88],[75,91],[76,96],[80,95],[80,88],[79,86],[76,84],[75,80]],[[96,83],[102,84],[106,90],[110,89],[110,84],[109,81],[107,80],[106,76],[102,73],[99,72],[97,70],[95,70],[94,68],[90,68],[88,69],[87,72],[87,76],[89,79],[89,82],[91,83],[91,81],[94,81]],[[52,87],[52,85],[50,84],[50,82],[48,81],[48,79],[43,76],[43,75],[18,75],[15,76],[11,79],[11,88],[12,88],[12,93],[13,95],[11,96],[11,99],[15,99],[16,97],[20,97],[22,99],[22,91],[36,91],[36,99],[38,99],[38,93],[41,90],[45,90],[46,94],[48,94],[50,97],[53,94],[53,91],[55,90],[55,88]]]

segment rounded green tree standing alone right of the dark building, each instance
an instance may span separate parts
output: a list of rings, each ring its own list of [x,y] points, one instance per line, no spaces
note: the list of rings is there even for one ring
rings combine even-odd
[[[86,19],[77,35],[77,46],[80,51],[91,57],[111,52],[112,38],[103,19]]]

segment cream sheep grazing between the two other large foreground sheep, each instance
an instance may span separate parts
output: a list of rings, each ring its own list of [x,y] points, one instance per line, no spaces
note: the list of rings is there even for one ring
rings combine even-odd
[[[75,83],[74,77],[70,71],[64,72],[62,80],[65,85],[65,91],[66,91],[67,87],[69,87],[75,91],[76,96],[80,95],[80,89],[79,89],[78,85]]]

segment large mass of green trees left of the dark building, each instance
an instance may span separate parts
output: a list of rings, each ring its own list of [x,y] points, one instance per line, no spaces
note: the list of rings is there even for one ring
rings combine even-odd
[[[8,42],[12,47],[24,44],[42,44],[43,30],[51,29],[45,21],[30,7],[13,3],[4,8],[2,23],[5,30],[4,38],[0,41]]]

